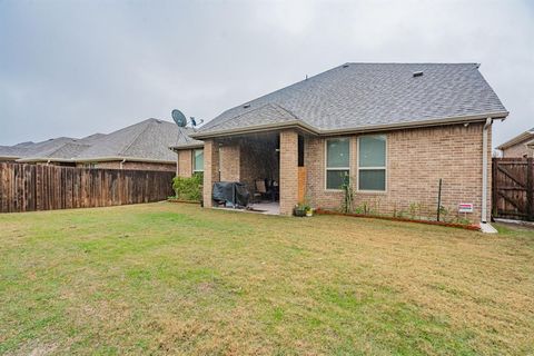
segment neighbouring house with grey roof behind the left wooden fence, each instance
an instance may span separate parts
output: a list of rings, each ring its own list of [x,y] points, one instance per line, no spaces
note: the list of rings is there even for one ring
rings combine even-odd
[[[32,150],[19,162],[90,168],[176,170],[176,156],[169,146],[180,142],[189,129],[148,119],[111,134],[70,139],[47,150]],[[0,151],[1,152],[1,151]]]

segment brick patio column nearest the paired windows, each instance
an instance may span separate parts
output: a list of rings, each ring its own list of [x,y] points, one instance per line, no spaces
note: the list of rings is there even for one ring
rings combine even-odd
[[[298,202],[298,134],[280,132],[280,214],[291,215]]]

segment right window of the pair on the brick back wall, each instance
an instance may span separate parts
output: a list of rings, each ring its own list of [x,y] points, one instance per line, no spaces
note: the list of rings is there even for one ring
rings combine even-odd
[[[358,139],[358,190],[386,191],[386,136]]]

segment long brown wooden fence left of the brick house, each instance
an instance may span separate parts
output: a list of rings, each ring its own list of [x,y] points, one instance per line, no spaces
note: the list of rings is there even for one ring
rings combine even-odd
[[[172,195],[172,171],[0,164],[0,212],[150,202]]]

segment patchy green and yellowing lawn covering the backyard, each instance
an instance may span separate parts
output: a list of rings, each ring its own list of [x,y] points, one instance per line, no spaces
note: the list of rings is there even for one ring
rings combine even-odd
[[[534,353],[534,231],[151,204],[0,216],[0,354]]]

